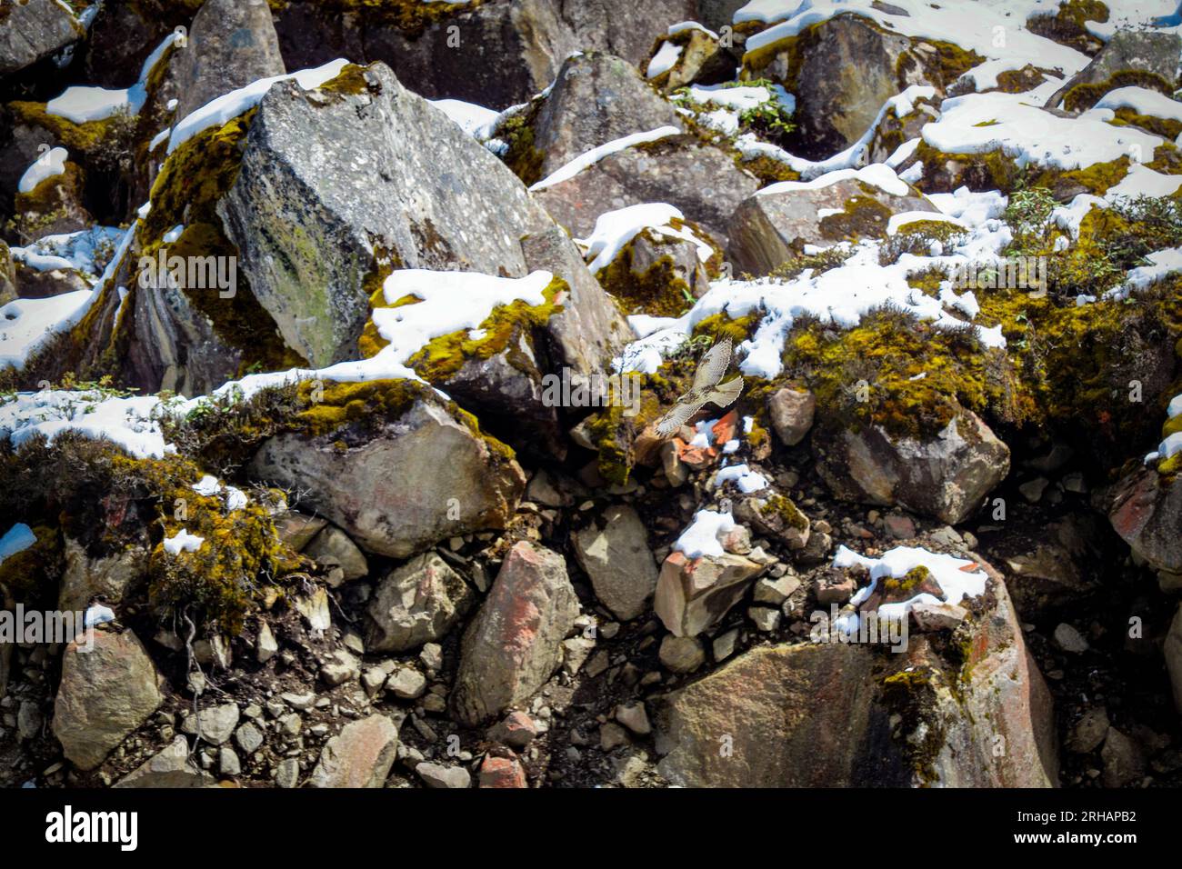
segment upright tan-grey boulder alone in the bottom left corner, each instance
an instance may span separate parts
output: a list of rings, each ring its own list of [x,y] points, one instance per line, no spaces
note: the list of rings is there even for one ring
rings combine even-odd
[[[138,637],[97,630],[92,649],[83,640],[63,653],[53,734],[70,763],[93,770],[163,700],[161,676]]]

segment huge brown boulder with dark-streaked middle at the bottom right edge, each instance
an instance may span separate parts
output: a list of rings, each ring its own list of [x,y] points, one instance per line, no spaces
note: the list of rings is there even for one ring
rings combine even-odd
[[[702,787],[1054,786],[1051,696],[995,573],[991,586],[963,667],[928,635],[905,654],[761,646],[655,698],[658,771]]]

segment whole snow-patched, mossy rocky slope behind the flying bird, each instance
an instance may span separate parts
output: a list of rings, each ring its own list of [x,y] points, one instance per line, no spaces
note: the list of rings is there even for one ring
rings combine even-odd
[[[0,8],[0,784],[1182,784],[1174,6]]]

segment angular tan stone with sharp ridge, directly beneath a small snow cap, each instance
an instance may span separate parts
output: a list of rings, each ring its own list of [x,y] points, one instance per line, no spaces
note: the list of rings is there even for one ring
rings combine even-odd
[[[695,636],[717,624],[762,570],[730,553],[690,560],[673,552],[661,566],[652,607],[675,636]]]

